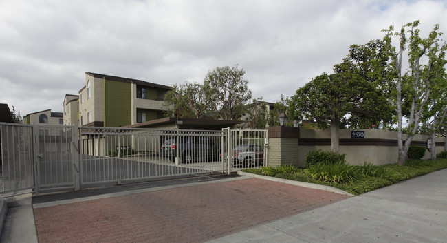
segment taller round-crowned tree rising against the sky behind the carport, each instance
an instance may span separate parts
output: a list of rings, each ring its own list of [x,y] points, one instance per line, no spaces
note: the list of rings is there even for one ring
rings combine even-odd
[[[217,118],[237,120],[247,112],[252,91],[248,89],[248,81],[243,78],[246,72],[233,67],[216,67],[209,71],[204,79],[206,99]]]

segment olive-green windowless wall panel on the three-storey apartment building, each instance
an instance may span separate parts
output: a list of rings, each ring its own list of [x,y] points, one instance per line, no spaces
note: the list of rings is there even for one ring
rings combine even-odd
[[[131,124],[131,84],[104,82],[104,126],[121,127]]]

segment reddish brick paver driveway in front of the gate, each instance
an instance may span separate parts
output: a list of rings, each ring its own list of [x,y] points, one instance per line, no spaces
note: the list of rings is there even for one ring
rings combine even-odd
[[[39,242],[205,242],[348,196],[257,178],[34,209]]]

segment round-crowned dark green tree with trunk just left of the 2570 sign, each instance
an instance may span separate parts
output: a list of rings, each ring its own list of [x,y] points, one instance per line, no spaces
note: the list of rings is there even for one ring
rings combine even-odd
[[[290,98],[289,116],[306,118],[318,124],[318,128],[331,128],[331,150],[338,153],[339,130],[349,114],[360,112],[364,94],[371,85],[353,72],[321,74]]]

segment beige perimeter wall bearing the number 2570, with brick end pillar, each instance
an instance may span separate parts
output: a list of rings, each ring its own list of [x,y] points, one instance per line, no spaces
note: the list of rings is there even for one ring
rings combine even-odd
[[[351,131],[364,131],[364,138],[351,138]],[[298,144],[297,138],[269,138],[268,161],[270,166],[297,165],[305,167],[305,157],[309,151],[321,149],[331,151],[330,130],[300,129],[300,139],[303,144]],[[406,136],[404,136],[406,138]],[[417,134],[413,141],[418,145],[426,145],[429,136]],[[306,145],[304,140],[320,139],[317,145]],[[318,145],[324,139],[328,145]],[[340,139],[349,141],[350,145],[340,145],[340,154],[345,154],[347,162],[351,165],[363,165],[364,162],[373,165],[385,165],[396,163],[398,158],[397,131],[385,131],[379,129],[340,130]],[[358,144],[356,141],[358,140]],[[369,140],[369,141],[368,141]],[[379,145],[368,145],[379,143]],[[391,142],[391,143],[389,143]],[[444,142],[444,138],[437,138],[437,142]],[[309,144],[309,143],[307,143]],[[393,144],[395,144],[393,146]],[[437,154],[444,151],[444,147],[436,146]],[[426,149],[423,159],[430,158],[430,151]]]

